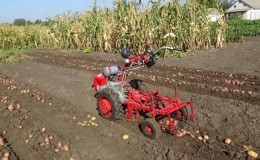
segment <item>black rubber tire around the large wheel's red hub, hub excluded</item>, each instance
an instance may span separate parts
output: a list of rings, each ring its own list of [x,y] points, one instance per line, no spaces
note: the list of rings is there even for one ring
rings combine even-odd
[[[102,98],[102,97],[105,97],[110,102],[110,104],[112,106],[112,114],[109,118],[105,117],[104,114],[102,113],[101,109],[100,109],[99,99]],[[98,93],[97,109],[98,109],[99,114],[103,118],[111,120],[111,121],[118,120],[121,117],[121,115],[123,114],[122,104],[120,103],[119,95],[111,88],[105,88]]]

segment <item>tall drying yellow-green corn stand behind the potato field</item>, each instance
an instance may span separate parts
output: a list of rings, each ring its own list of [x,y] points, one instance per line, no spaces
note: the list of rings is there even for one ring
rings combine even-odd
[[[162,1],[163,2],[163,1]],[[94,5],[85,13],[67,13],[48,19],[46,25],[0,26],[0,49],[36,47],[116,52],[163,45],[189,50],[225,42],[225,21],[214,29],[208,8],[197,0],[141,3],[118,0],[113,9]]]

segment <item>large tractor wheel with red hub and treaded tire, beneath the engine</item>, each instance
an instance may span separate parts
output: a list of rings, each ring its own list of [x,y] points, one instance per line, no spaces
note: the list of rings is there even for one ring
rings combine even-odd
[[[118,94],[110,88],[105,88],[98,93],[97,109],[103,118],[111,121],[118,120],[123,113]]]

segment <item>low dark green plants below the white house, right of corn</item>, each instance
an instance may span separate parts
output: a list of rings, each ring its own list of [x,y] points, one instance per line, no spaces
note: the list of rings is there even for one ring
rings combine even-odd
[[[246,36],[260,35],[260,20],[229,20],[226,42],[241,41]]]

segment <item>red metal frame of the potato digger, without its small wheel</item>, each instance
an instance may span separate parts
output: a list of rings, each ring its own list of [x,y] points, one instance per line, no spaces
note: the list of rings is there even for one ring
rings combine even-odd
[[[177,122],[172,121],[171,114],[179,111],[181,108],[190,107],[189,119],[194,120],[194,110],[192,102],[182,102],[178,100],[177,87],[175,87],[175,98],[160,95],[160,91],[144,92],[132,89],[128,92],[128,99],[124,102],[126,108],[126,118],[130,121],[135,116],[138,121],[139,112],[151,114],[151,118],[156,119],[157,116],[167,117],[169,124],[160,124],[161,129],[169,131],[171,134],[176,133]],[[163,106],[160,108],[160,106]]]

